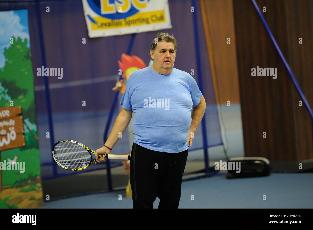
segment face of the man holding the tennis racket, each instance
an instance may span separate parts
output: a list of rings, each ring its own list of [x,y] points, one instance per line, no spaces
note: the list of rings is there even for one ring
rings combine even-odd
[[[172,42],[158,42],[156,49],[150,54],[153,58],[153,66],[158,69],[171,69],[174,66],[176,52],[174,50],[174,44]]]

